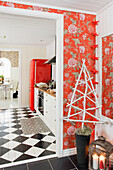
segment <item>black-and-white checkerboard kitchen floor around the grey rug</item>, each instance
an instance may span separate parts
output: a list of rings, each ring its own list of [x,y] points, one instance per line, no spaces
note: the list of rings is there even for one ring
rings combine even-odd
[[[37,116],[29,108],[0,110],[0,165],[56,153],[52,132],[23,134],[20,119]]]

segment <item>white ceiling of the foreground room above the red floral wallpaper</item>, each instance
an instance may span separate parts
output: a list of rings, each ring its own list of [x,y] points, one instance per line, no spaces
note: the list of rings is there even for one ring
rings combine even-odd
[[[5,0],[7,1],[7,0]],[[8,0],[18,3],[29,3],[37,5],[48,5],[73,10],[83,10],[99,12],[103,7],[113,2],[113,0]]]

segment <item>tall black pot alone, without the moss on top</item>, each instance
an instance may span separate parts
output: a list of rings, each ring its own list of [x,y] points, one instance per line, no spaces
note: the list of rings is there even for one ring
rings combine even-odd
[[[77,146],[77,162],[80,168],[88,167],[88,150],[89,150],[90,135],[77,135],[76,134],[76,146]]]

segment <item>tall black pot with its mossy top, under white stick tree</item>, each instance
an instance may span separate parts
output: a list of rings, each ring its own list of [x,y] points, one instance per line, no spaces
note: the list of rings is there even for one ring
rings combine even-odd
[[[84,126],[75,130],[77,162],[80,168],[88,167],[88,150],[92,129]]]

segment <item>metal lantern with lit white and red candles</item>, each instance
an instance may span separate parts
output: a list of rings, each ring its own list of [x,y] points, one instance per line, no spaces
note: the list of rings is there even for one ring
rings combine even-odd
[[[89,169],[109,170],[109,157],[113,153],[113,145],[105,137],[99,136],[89,145]]]

